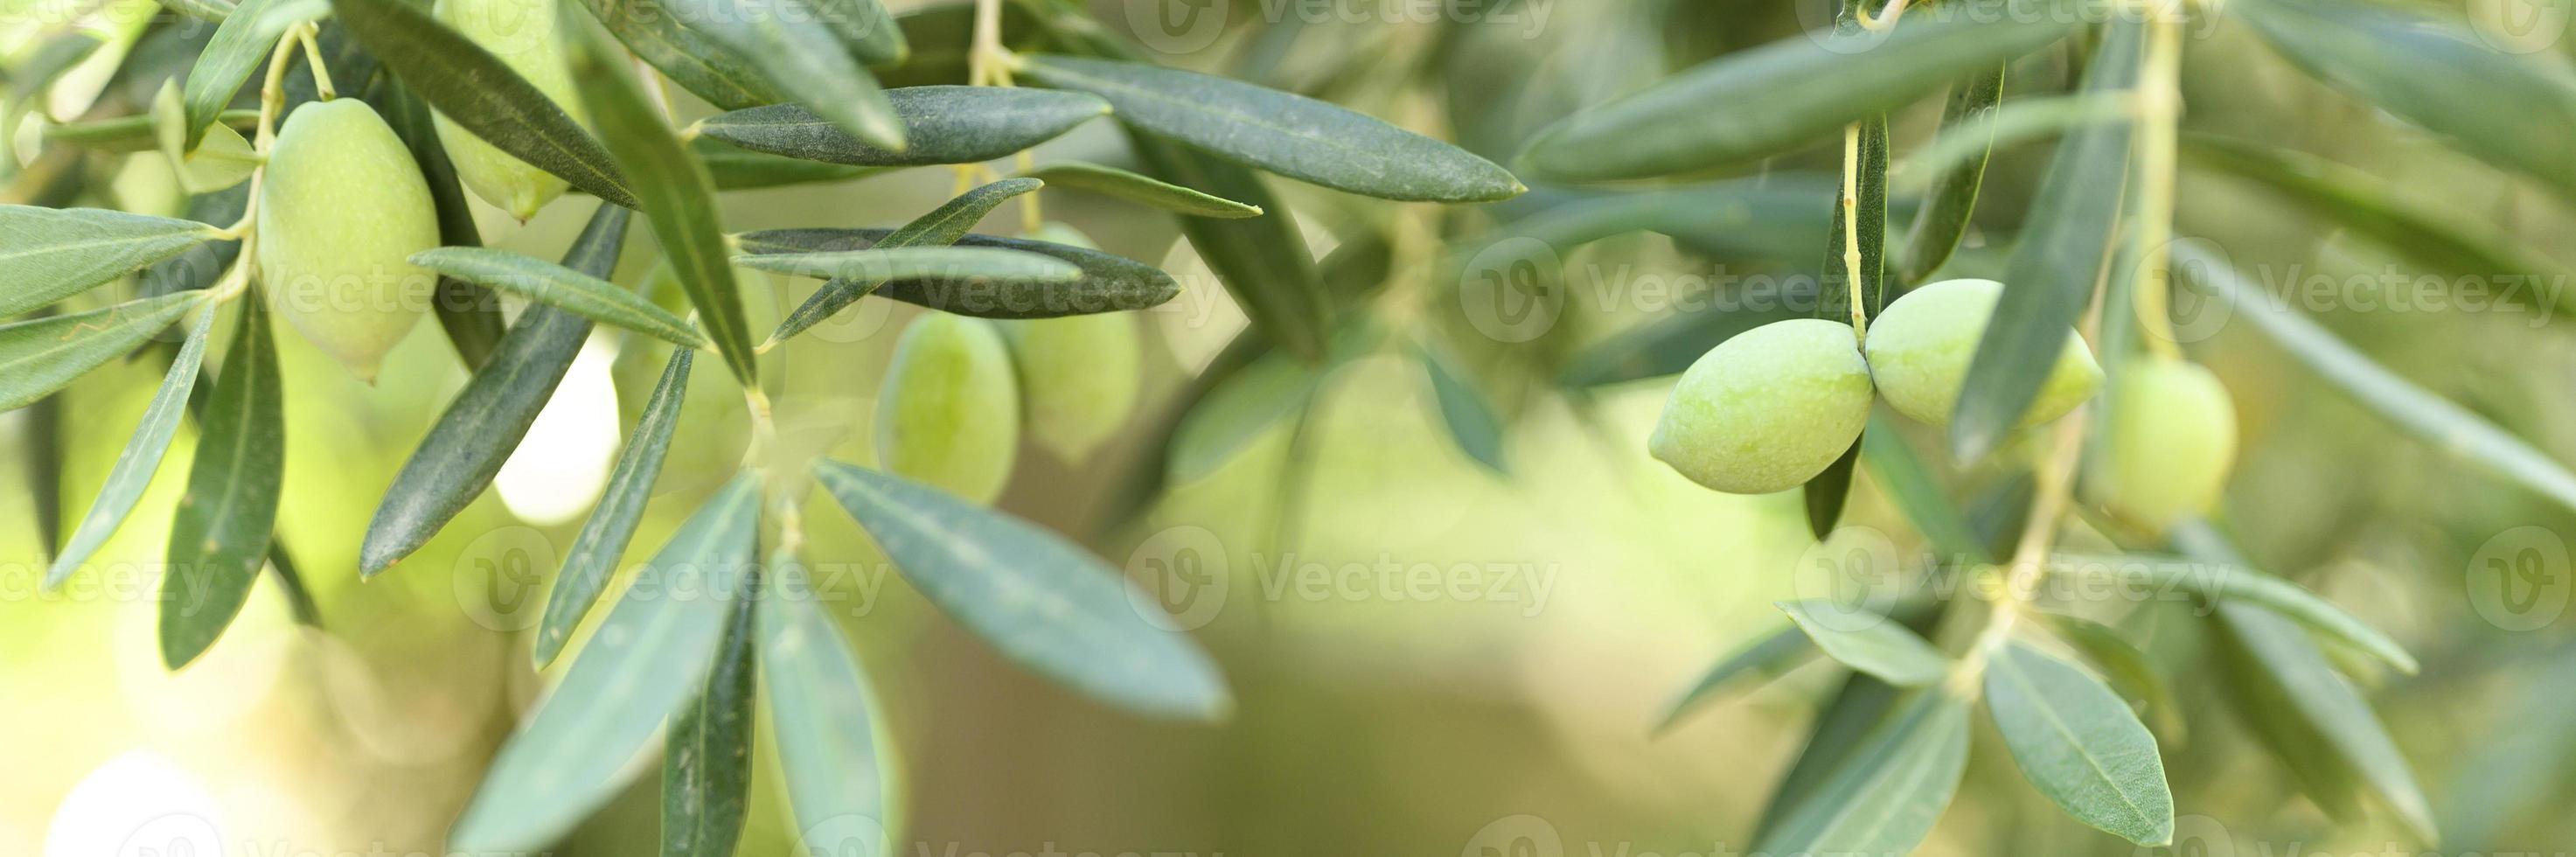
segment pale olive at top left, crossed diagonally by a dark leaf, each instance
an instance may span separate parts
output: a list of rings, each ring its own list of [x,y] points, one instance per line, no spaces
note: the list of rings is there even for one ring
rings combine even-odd
[[[500,57],[518,77],[528,77],[554,106],[582,121],[582,98],[564,64],[564,39],[556,33],[556,0],[438,0],[435,15],[477,46]],[[456,180],[482,201],[526,221],[564,196],[564,180],[495,149],[443,113],[435,118],[438,144],[456,162]]]

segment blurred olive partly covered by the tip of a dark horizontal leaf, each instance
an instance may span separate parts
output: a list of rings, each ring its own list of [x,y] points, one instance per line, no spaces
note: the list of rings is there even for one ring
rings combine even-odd
[[[1095,247],[1074,226],[1046,224],[1030,239]],[[1144,340],[1123,311],[999,322],[1020,371],[1028,432],[1066,463],[1082,463],[1128,422],[1144,389]]]

